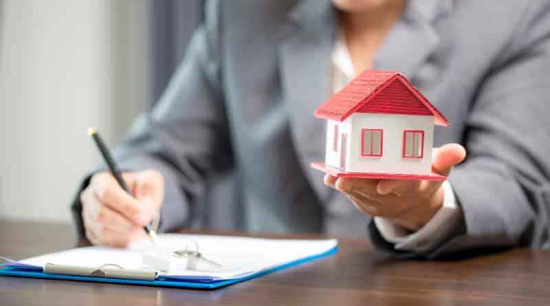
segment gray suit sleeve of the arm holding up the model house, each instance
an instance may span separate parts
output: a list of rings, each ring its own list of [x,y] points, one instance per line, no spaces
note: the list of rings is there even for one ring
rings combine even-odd
[[[463,224],[451,239],[415,255],[548,245],[550,5],[541,3],[531,2],[474,96],[463,138],[468,156],[448,177]],[[380,248],[393,250],[372,224],[369,232]]]

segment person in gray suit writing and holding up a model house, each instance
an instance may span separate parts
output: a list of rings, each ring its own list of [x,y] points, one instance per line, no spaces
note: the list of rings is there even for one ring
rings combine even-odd
[[[549,14],[545,1],[212,1],[164,96],[118,148],[136,199],[96,173],[74,204],[80,231],[124,246],[151,220],[193,226],[218,194],[208,182],[236,171],[245,230],[361,235],[370,223],[378,247],[428,257],[545,245]],[[434,131],[444,184],[308,168],[325,144],[311,113],[364,69],[401,72],[450,120]]]

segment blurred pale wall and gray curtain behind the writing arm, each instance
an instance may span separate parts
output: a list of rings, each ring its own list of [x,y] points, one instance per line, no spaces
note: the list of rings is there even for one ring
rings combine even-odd
[[[149,109],[203,0],[0,0],[0,220],[69,222],[83,175]]]

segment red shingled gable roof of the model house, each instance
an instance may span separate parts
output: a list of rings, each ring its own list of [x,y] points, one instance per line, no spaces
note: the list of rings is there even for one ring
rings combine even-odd
[[[316,111],[315,116],[342,122],[352,113],[395,113],[434,116],[434,124],[449,122],[420,91],[397,72],[366,70]]]

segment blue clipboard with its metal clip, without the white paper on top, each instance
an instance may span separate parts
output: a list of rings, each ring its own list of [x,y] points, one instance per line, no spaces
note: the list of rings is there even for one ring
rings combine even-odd
[[[0,264],[0,276],[19,276],[30,278],[46,278],[69,281],[89,281],[95,283],[114,283],[129,285],[148,285],[157,287],[179,287],[192,289],[216,289],[233,283],[247,281],[283,270],[301,263],[320,259],[338,252],[338,247],[334,246],[326,252],[310,254],[302,258],[276,265],[265,270],[243,274],[233,278],[219,278],[214,276],[173,276],[159,273],[155,270],[135,270],[124,269],[117,265],[102,265],[98,267],[83,267],[58,264],[46,264],[43,267],[27,265],[17,261],[9,261]]]

